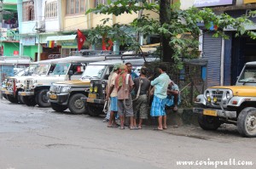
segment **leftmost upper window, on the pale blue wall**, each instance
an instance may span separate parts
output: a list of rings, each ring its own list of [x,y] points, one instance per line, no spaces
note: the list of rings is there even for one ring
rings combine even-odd
[[[35,20],[34,1],[22,3],[23,21]]]

